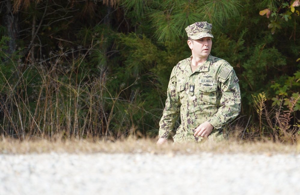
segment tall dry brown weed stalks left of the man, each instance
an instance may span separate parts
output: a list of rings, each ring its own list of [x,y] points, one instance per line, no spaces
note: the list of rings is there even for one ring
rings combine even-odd
[[[138,78],[111,91],[109,85],[115,78],[108,77],[105,66],[99,65],[93,72],[86,68],[86,58],[95,45],[84,53],[60,47],[47,59],[27,56],[15,60],[2,51],[11,74],[5,74],[2,69],[6,67],[0,66],[0,134],[20,140],[32,136],[107,140],[135,135],[130,116],[134,111],[128,114],[124,110],[142,109],[141,103],[122,95]]]

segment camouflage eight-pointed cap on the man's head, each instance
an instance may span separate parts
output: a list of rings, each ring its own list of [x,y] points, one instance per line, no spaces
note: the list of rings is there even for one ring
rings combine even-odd
[[[196,22],[192,25],[186,27],[185,31],[187,36],[191,39],[197,40],[203,37],[211,37],[214,36],[211,34],[212,24],[207,22]]]

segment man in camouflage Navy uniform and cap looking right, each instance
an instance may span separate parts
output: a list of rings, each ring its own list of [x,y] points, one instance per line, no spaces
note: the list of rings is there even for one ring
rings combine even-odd
[[[192,56],[178,62],[171,72],[157,144],[168,142],[179,114],[174,142],[225,139],[227,124],[240,113],[240,87],[232,66],[210,54],[211,27],[196,22],[185,29]]]

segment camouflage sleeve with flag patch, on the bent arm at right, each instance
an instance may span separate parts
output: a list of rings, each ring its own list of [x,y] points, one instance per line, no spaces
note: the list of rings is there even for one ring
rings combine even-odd
[[[241,91],[238,78],[232,67],[223,68],[218,81],[222,92],[221,106],[217,113],[208,120],[216,129],[220,129],[223,125],[232,121],[241,111]]]

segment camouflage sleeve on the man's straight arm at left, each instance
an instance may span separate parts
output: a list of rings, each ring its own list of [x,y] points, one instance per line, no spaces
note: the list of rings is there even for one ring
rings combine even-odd
[[[177,117],[180,113],[180,99],[176,91],[175,67],[172,70],[167,90],[167,100],[162,118],[159,122],[159,138],[168,139],[170,131],[173,129]]]

